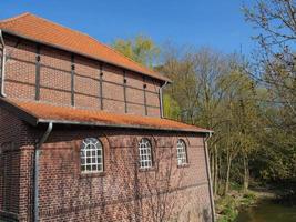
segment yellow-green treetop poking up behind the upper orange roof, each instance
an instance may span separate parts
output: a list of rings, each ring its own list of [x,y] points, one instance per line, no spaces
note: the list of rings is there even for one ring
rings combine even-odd
[[[112,47],[125,57],[147,67],[152,67],[160,54],[159,47],[145,36],[126,40],[116,39]]]

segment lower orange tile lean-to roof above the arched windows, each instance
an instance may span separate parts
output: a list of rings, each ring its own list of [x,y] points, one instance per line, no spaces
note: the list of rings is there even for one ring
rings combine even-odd
[[[133,114],[115,114],[98,110],[58,107],[32,101],[24,102],[18,100],[0,99],[0,105],[9,108],[10,111],[21,111],[22,114],[20,114],[20,112],[18,112],[17,114],[19,117],[27,115],[27,118],[24,119],[30,119],[30,123],[35,125],[40,122],[57,122],[166,131],[212,132],[211,130],[169,119],[141,117]]]

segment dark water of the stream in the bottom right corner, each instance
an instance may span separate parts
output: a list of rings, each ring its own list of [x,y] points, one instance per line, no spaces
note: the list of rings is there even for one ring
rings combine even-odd
[[[265,200],[239,212],[236,222],[296,222],[296,206]]]

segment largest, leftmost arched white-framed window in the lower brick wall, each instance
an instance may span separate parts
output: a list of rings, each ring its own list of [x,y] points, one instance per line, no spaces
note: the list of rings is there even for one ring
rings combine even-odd
[[[81,172],[100,173],[104,171],[103,145],[95,138],[86,138],[81,143]]]

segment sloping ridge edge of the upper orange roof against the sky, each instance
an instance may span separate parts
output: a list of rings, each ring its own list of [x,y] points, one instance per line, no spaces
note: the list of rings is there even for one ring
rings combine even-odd
[[[21,14],[20,14],[20,16],[21,16]],[[24,16],[24,14],[23,14],[23,16]],[[68,29],[68,30],[70,30],[70,31],[76,32],[76,33],[79,33],[79,34],[84,34],[85,37],[89,37],[90,39],[94,40],[96,43],[99,43],[99,44],[101,44],[101,46],[103,46],[103,47],[105,47],[105,48],[112,50],[112,51],[115,52],[116,54],[119,54],[119,56],[121,56],[121,57],[124,57],[125,59],[130,60],[131,62],[134,62],[134,63],[136,63],[137,65],[140,65],[140,67],[142,67],[142,68],[144,68],[144,69],[149,69],[150,71],[154,72],[154,71],[151,70],[150,68],[147,68],[147,67],[145,67],[145,65],[143,65],[143,64],[141,64],[141,63],[134,61],[133,59],[126,57],[125,54],[123,54],[123,53],[121,53],[121,52],[119,52],[119,51],[116,51],[116,50],[113,49],[112,47],[110,47],[110,46],[108,46],[108,44],[105,44],[105,43],[99,41],[98,39],[95,39],[94,37],[91,37],[91,36],[88,34],[88,33],[84,33],[84,32],[82,32],[82,31],[74,30],[74,29],[72,29],[72,28],[70,28],[70,27],[60,24],[60,23],[58,23],[58,22],[51,21],[51,20],[49,20],[49,19],[45,19],[45,18],[43,18],[43,17],[39,17],[39,16],[33,14],[33,13],[30,13],[30,12],[27,12],[25,16],[33,16],[33,17],[37,17],[38,19],[44,20],[44,21],[50,22],[50,23],[54,23],[55,26],[62,27],[62,28]]]

